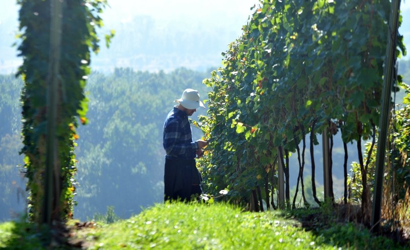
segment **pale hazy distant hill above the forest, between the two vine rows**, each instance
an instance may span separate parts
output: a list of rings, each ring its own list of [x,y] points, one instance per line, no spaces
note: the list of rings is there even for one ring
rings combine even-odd
[[[204,71],[221,65],[221,52],[239,36],[225,26],[205,26],[198,22],[172,20],[161,23],[149,16],[136,16],[117,23],[109,49],[102,48],[93,60],[96,70],[132,67],[138,70],[171,71],[187,67]]]

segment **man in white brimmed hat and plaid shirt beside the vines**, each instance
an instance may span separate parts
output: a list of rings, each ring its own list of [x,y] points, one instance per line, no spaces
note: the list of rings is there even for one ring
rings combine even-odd
[[[164,172],[164,200],[190,200],[202,194],[201,175],[196,168],[195,156],[201,157],[208,143],[192,141],[188,116],[197,108],[205,108],[196,90],[186,89],[179,104],[168,114],[163,125],[162,145],[166,151]]]

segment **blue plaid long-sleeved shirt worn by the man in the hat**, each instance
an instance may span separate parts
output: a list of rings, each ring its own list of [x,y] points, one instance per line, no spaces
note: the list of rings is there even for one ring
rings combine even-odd
[[[163,148],[167,159],[194,159],[198,144],[192,141],[187,114],[177,106],[168,114],[163,124]]]

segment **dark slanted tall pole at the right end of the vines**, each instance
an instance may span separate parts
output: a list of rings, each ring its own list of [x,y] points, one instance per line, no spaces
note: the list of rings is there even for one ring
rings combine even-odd
[[[391,1],[388,42],[386,58],[384,60],[383,92],[381,100],[381,114],[379,123],[379,138],[377,141],[376,177],[373,193],[372,228],[377,232],[380,229],[380,214],[383,194],[384,160],[386,152],[387,129],[389,125],[391,88],[394,76],[396,38],[400,0]]]

